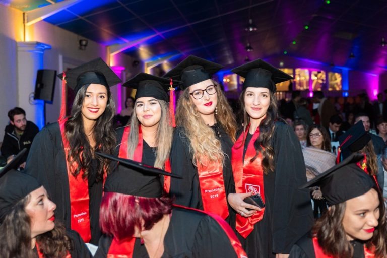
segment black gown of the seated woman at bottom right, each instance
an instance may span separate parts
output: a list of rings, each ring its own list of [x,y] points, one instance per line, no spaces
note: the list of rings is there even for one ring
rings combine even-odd
[[[353,247],[352,258],[365,257],[363,243],[354,240],[351,241],[351,245]],[[298,240],[291,249],[289,258],[316,258],[312,239],[308,235],[305,235],[300,240]]]

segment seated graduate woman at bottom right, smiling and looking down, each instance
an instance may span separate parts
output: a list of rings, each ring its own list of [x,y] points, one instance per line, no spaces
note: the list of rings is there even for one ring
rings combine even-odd
[[[319,185],[330,206],[293,246],[290,258],[387,257],[383,198],[352,154],[302,187]]]

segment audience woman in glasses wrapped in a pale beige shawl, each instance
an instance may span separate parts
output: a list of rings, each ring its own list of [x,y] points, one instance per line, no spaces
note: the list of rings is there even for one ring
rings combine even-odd
[[[327,130],[319,124],[309,128],[307,147],[302,150],[305,160],[306,177],[308,181],[335,165],[336,156],[331,153],[331,138]],[[314,203],[313,214],[319,218],[327,211],[327,204],[318,187],[311,188]]]

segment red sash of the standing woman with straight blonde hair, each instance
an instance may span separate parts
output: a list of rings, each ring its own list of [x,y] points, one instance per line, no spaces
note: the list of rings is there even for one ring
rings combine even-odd
[[[123,159],[129,158],[127,154],[127,140],[129,139],[130,132],[131,132],[130,126],[126,126],[123,130],[121,146],[119,147],[119,153],[118,153],[118,157]],[[137,162],[142,162],[143,160],[143,133],[141,131],[141,125],[139,125],[139,142],[136,146],[135,153],[133,154],[133,160]],[[169,159],[165,161],[164,170],[169,173],[171,172],[171,164],[169,162]],[[166,193],[169,193],[170,186],[171,186],[171,177],[164,176],[164,191]]]

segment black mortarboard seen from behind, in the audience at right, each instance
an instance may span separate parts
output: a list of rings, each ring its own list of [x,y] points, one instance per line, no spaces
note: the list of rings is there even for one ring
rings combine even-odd
[[[338,155],[342,154],[342,158],[345,159],[351,153],[363,149],[369,141],[371,141],[371,137],[365,131],[363,122],[358,121],[339,137],[340,146]]]

